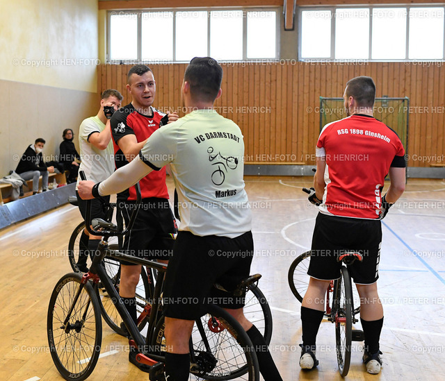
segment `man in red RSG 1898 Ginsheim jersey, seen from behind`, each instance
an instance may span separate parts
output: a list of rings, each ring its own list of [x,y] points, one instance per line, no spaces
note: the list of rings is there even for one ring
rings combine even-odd
[[[375,85],[359,76],[343,94],[348,117],[327,124],[316,145],[317,169],[309,201],[320,205],[312,237],[311,276],[302,301],[300,366],[313,369],[316,335],[323,319],[324,299],[332,279],[340,278],[341,251],[362,254],[350,273],[360,296],[364,331],[363,361],[369,373],[379,373],[383,309],[377,291],[382,242],[381,219],[405,190],[405,151],[394,130],[373,117]],[[391,183],[382,195],[385,176]]]

